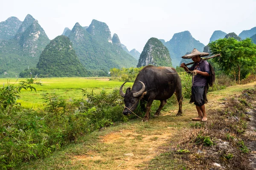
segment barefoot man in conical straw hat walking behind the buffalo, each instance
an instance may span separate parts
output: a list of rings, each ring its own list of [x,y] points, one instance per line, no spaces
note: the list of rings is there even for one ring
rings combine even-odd
[[[208,56],[208,53],[201,53],[197,49],[193,49],[190,54],[183,56],[182,58],[192,59],[195,62],[190,68],[186,67],[185,63],[181,63],[180,67],[188,73],[192,73],[194,78],[192,79],[192,95],[190,103],[194,102],[196,110],[198,111],[198,117],[192,118],[195,121],[207,121],[207,114],[204,104],[207,102],[207,90],[208,78],[210,76],[210,66],[207,61],[201,59],[203,56]]]

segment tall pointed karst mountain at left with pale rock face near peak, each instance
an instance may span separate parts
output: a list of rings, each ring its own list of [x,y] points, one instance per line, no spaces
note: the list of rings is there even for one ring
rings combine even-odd
[[[48,43],[44,29],[28,14],[14,37],[0,40],[0,77],[17,77],[25,68],[35,67]]]

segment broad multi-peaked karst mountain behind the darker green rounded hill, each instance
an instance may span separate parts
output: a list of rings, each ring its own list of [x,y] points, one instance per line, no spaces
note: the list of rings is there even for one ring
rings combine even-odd
[[[135,67],[137,60],[121,47],[117,34],[112,43],[105,23],[93,20],[87,29],[76,23],[68,35],[76,54],[85,68],[109,71],[110,68]]]

